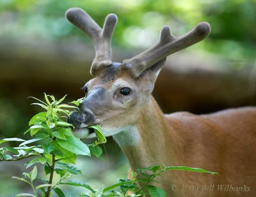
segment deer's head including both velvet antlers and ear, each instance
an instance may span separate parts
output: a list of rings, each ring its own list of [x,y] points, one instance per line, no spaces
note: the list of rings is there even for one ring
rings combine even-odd
[[[95,47],[90,71],[94,78],[83,87],[85,96],[79,110],[68,118],[78,138],[95,137],[87,128],[93,124],[100,124],[106,136],[136,125],[143,106],[150,101],[166,57],[203,40],[210,32],[209,24],[200,22],[188,33],[174,37],[170,28],[164,26],[154,47],[117,63],[112,62],[110,43],[117,22],[115,14],[106,17],[102,29],[80,8],[69,9],[66,17],[92,39]]]

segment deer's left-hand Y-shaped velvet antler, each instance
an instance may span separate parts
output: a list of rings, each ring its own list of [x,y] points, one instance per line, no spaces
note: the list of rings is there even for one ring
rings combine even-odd
[[[104,22],[103,29],[80,8],[70,8],[66,12],[66,18],[76,27],[86,33],[92,40],[95,48],[95,58],[92,62],[91,74],[105,66],[112,64],[111,38],[116,26],[117,17],[109,14]]]

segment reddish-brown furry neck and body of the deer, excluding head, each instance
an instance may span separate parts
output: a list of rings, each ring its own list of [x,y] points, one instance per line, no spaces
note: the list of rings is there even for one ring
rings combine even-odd
[[[255,117],[255,107],[209,115],[178,112],[164,116],[151,98],[136,124],[140,144],[121,148],[132,170],[163,164],[204,168],[219,174],[165,172],[157,186],[167,196],[256,196]],[[227,191],[218,191],[220,185]]]

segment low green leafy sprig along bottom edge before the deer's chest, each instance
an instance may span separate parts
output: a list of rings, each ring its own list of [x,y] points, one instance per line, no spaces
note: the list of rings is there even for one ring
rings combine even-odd
[[[132,179],[119,179],[117,184],[111,186],[92,190],[81,196],[84,197],[106,197],[106,196],[119,196],[119,197],[137,197],[137,196],[152,196],[152,197],[166,197],[163,189],[156,187],[152,184],[157,183],[156,177],[161,176],[162,173],[169,170],[185,170],[196,171],[201,173],[216,174],[212,171],[207,171],[201,168],[189,168],[187,166],[160,166],[154,165],[148,168],[140,168],[136,172],[132,171]]]

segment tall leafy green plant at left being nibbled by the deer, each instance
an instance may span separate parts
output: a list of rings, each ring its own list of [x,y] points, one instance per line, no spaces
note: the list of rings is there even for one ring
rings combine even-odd
[[[42,191],[42,196],[50,196],[54,191],[58,196],[64,196],[63,192],[58,188],[60,184],[70,184],[77,186],[78,183],[66,182],[71,175],[81,173],[74,164],[76,163],[77,155],[100,157],[102,149],[99,147],[100,143],[105,143],[106,138],[102,134],[99,126],[95,125],[92,128],[97,134],[97,139],[91,145],[86,145],[78,138],[74,137],[70,131],[71,124],[68,124],[65,119],[70,114],[68,109],[77,108],[79,105],[77,101],[72,103],[76,106],[61,104],[65,96],[60,100],[56,100],[54,96],[45,94],[45,101],[34,98],[39,103],[32,103],[32,105],[39,105],[46,112],[40,112],[34,115],[29,121],[30,128],[24,132],[30,133],[31,140],[22,140],[20,138],[6,138],[0,140],[4,142],[22,142],[19,147],[3,147],[0,149],[0,161],[17,161],[28,157],[33,157],[31,161],[26,164],[26,168],[33,166],[36,163],[44,165],[45,175],[49,174],[49,179],[42,179],[37,177],[36,166],[29,173],[23,173],[22,178],[13,177],[29,184],[33,189],[33,194],[17,194],[16,196],[38,196],[38,190]],[[31,143],[40,143],[38,145],[31,145]],[[12,153],[12,156],[9,153]],[[56,184],[52,184],[54,174],[60,175],[60,180]],[[35,179],[41,180],[44,184],[34,186]],[[84,184],[80,184],[85,186]],[[87,186],[86,186],[87,187]],[[46,189],[45,189],[46,188]],[[90,188],[90,186],[88,186]],[[41,196],[41,195],[40,195]]]

